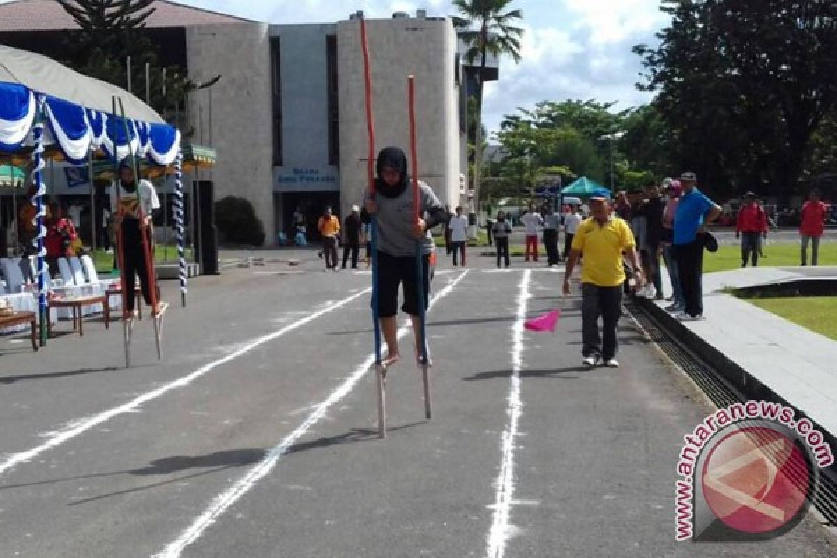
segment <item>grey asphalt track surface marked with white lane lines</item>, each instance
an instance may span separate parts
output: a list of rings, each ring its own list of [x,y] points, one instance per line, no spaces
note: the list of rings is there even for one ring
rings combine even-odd
[[[543,263],[440,256],[434,417],[405,330],[378,439],[370,276],[312,254],[193,280],[162,363],[147,319],[130,370],[119,323],[0,338],[0,556],[837,555],[813,519],[675,542],[676,458],[711,407],[627,318],[622,367],[581,367],[579,300]],[[521,329],[556,307],[554,334]]]

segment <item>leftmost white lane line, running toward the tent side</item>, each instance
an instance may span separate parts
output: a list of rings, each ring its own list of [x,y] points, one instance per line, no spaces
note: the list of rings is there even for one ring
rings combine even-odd
[[[234,351],[229,355],[224,356],[221,359],[218,359],[217,361],[210,362],[208,365],[199,368],[192,374],[189,374],[188,376],[183,376],[179,380],[172,381],[171,383],[168,383],[165,386],[157,390],[154,390],[153,392],[148,392],[139,397],[136,397],[136,399],[132,400],[131,402],[127,402],[125,405],[121,405],[120,407],[114,407],[108,411],[101,412],[98,415],[95,415],[94,417],[74,421],[72,423],[72,426],[57,433],[44,434],[42,435],[44,438],[49,438],[49,441],[47,443],[44,443],[38,446],[37,448],[29,449],[25,452],[13,453],[11,457],[7,458],[5,461],[3,461],[3,463],[0,463],[0,475],[8,471],[10,468],[13,468],[20,463],[24,463],[38,456],[40,453],[44,453],[49,449],[56,448],[62,443],[67,442],[72,438],[75,438],[76,436],[79,436],[80,434],[87,432],[88,430],[90,430],[90,428],[96,427],[103,422],[109,421],[113,417],[116,417],[126,412],[135,412],[143,404],[150,402],[153,399],[157,399],[157,397],[162,397],[167,392],[171,392],[172,390],[175,390],[180,387],[186,387],[193,381],[197,380],[200,376],[203,376],[204,374],[206,374],[209,371],[212,371],[218,366],[226,364],[227,362],[232,361],[233,359],[238,358],[239,356],[242,356],[249,351],[252,351],[256,347],[264,345],[264,343],[268,343],[272,340],[275,340],[281,337],[282,335],[285,335],[289,331],[295,330],[301,327],[302,325],[306,325],[307,323],[316,320],[317,318],[326,315],[333,310],[337,310],[338,308],[341,308],[342,306],[349,304],[350,302],[352,302],[352,300],[362,296],[363,294],[369,293],[371,290],[372,289],[365,289],[357,294],[352,294],[352,296],[346,299],[342,299],[339,302],[334,303],[333,305],[328,305],[322,310],[318,310],[315,313],[308,315],[306,318],[303,318],[302,320],[295,321],[293,324],[286,325],[282,329],[274,331],[270,335],[264,335],[263,337],[259,337],[253,341],[250,341],[247,345],[242,346],[237,351]]]

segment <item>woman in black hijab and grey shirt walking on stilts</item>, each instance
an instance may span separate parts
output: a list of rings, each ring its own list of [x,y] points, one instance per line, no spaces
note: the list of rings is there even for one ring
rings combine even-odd
[[[420,308],[418,293],[418,269],[416,269],[416,243],[422,242],[422,278],[424,283],[424,310],[429,306],[429,260],[435,246],[427,236],[431,228],[446,223],[448,213],[433,190],[419,181],[419,223],[413,223],[413,184],[408,177],[407,156],[398,147],[384,147],[378,153],[375,166],[376,194],[364,194],[364,222],[370,215],[377,217],[377,266],[378,306],[383,338],[387,342],[387,356],[382,364],[388,367],[400,360],[398,351],[398,285],[402,285],[404,304],[401,310],[410,316],[415,335],[413,348],[416,361],[422,362],[419,350]],[[427,350],[428,366],[432,366]]]

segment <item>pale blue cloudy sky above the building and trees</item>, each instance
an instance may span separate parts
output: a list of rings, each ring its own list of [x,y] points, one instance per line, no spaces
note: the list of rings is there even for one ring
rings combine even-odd
[[[393,12],[454,14],[449,0],[179,0],[181,3],[270,23],[320,23],[362,9],[369,18]],[[642,105],[636,90],[640,59],[634,44],[656,44],[668,22],[658,0],[516,0],[526,29],[520,64],[501,61],[500,81],[485,91],[485,125],[494,131],[503,115],[541,100],[617,101],[617,109]],[[502,95],[500,94],[502,91]]]

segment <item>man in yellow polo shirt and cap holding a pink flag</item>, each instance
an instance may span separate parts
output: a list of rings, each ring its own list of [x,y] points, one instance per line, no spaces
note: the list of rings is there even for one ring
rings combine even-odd
[[[622,315],[622,286],[625,281],[622,254],[635,270],[637,287],[644,284],[642,266],[636,253],[634,234],[628,223],[611,212],[610,192],[600,190],[590,197],[593,217],[578,227],[567,258],[564,294],[570,294],[570,276],[579,258],[583,257],[581,274],[582,293],[582,356],[586,366],[619,367],[616,353],[619,340],[616,326]],[[601,335],[598,316],[602,316]]]

